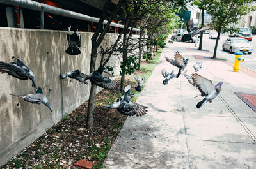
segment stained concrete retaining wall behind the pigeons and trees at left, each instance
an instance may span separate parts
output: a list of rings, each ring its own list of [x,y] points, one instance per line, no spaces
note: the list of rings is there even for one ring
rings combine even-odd
[[[10,96],[34,93],[31,80],[0,74],[0,166],[89,98],[90,85],[70,78],[60,80],[60,74],[76,69],[89,73],[92,35],[81,33],[81,54],[71,56],[65,53],[66,31],[0,28],[0,61],[13,62],[12,56],[22,59],[52,108],[51,112],[43,104],[33,105]],[[117,36],[107,34],[102,43],[113,43]],[[97,57],[97,67],[99,62]],[[116,57],[109,61],[111,66],[118,64]],[[115,74],[118,72],[116,68]]]

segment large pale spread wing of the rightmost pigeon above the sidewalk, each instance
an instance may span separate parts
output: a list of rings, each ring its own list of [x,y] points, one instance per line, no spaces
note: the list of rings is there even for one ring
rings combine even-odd
[[[207,96],[209,93],[215,90],[215,86],[212,84],[211,80],[202,77],[197,73],[193,73],[191,78],[202,95]]]

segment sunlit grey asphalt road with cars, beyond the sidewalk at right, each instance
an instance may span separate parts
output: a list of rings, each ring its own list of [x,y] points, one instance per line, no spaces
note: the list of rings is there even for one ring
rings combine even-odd
[[[203,39],[202,49],[214,52],[216,39],[209,39],[209,34],[204,34],[203,38],[204,39]],[[217,48],[217,58],[221,57],[221,58],[227,59],[228,61],[234,62],[235,55],[222,50],[223,41],[225,41],[227,38],[228,36],[225,36],[225,35],[220,36],[220,40]],[[244,61],[241,62],[240,66],[256,71],[256,36],[253,36],[251,45],[253,46],[254,51],[252,52],[252,54],[243,54],[242,57],[244,58]],[[199,46],[199,42],[197,43],[197,47],[198,46]]]

